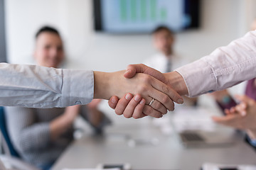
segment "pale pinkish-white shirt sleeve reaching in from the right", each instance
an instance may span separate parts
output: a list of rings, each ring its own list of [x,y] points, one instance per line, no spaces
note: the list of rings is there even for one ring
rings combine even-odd
[[[185,80],[191,97],[256,77],[256,30],[175,71]]]

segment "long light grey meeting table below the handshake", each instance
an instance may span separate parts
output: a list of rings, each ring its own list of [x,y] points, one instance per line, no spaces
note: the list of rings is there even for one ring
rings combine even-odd
[[[206,162],[256,164],[256,152],[245,143],[241,133],[232,132],[235,142],[228,147],[186,148],[175,132],[163,135],[151,120],[131,122],[107,128],[103,136],[75,140],[55,163],[53,170],[95,168],[99,163],[129,163],[132,169],[164,170],[200,169]]]

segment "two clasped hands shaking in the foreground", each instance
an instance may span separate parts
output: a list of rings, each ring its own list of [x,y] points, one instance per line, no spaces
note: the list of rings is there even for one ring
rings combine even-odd
[[[183,77],[178,72],[162,74],[144,64],[132,64],[126,72],[94,72],[94,98],[109,100],[117,115],[161,118],[174,111],[174,102],[182,104],[188,94]],[[128,93],[129,92],[129,93]]]

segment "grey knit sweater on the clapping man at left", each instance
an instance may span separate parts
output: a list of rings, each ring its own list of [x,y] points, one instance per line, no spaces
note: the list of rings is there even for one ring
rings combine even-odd
[[[55,162],[73,141],[72,127],[57,140],[50,139],[50,121],[64,111],[65,108],[6,107],[6,126],[11,142],[22,159],[38,167]],[[85,106],[81,107],[81,115],[86,117]]]

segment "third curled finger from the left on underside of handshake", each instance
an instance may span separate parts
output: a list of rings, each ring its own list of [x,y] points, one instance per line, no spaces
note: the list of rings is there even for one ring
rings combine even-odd
[[[138,103],[142,100],[142,96],[139,94],[135,95],[131,101],[129,101],[127,107],[124,109],[124,117],[132,118],[132,114],[134,113],[134,109],[137,107]]]

